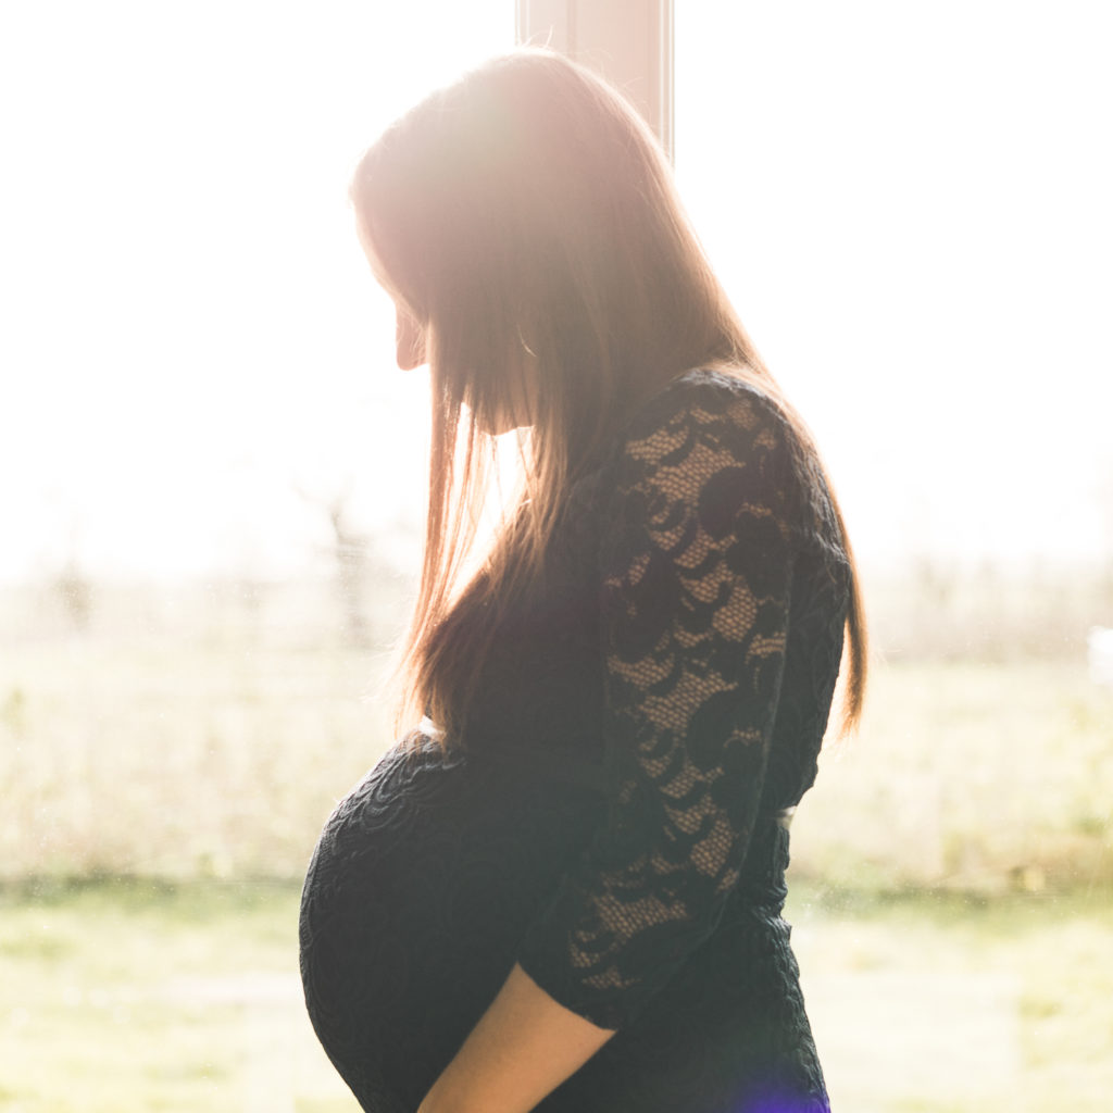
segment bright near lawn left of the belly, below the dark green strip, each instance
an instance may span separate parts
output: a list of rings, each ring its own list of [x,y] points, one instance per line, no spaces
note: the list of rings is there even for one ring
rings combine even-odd
[[[7,1113],[352,1113],[297,981],[296,889],[157,881],[0,895]]]

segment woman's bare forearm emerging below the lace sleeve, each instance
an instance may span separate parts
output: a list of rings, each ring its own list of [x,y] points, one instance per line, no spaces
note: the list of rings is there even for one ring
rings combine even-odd
[[[526,1113],[612,1035],[515,965],[417,1113]]]

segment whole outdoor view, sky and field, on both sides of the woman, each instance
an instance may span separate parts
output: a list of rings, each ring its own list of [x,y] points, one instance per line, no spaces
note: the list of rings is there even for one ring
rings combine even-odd
[[[512,0],[0,9],[0,1113],[353,1113],[298,884],[391,740],[427,391],[347,203]],[[1113,17],[676,4],[682,196],[863,563],[794,824],[836,1113],[1113,1093]]]

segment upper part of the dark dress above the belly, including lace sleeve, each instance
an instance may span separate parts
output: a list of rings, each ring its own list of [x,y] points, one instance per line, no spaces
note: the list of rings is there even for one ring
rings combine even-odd
[[[815,779],[848,562],[782,413],[706,371],[573,487],[549,558],[498,630],[463,742],[605,795],[520,958],[617,1027],[713,929],[748,859],[768,875],[751,844]]]

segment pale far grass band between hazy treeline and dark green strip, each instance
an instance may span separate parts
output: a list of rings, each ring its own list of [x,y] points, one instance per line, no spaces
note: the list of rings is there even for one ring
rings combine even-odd
[[[297,877],[391,740],[382,657],[239,638],[0,649],[0,876]],[[1113,881],[1113,689],[1080,658],[874,669],[799,810],[801,876],[860,888]]]

